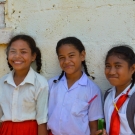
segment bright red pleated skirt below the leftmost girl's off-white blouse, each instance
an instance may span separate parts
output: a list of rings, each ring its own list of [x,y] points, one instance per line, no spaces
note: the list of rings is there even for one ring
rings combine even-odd
[[[38,125],[36,120],[24,122],[2,122],[0,135],[38,135]]]

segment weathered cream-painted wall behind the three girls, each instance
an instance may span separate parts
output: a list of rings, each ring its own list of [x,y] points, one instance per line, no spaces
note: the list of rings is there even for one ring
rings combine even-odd
[[[135,1],[133,0],[9,0],[6,26],[34,37],[43,57],[42,74],[47,78],[61,69],[55,54],[59,39],[78,37],[86,47],[91,75],[102,90],[109,87],[104,76],[104,58],[111,46],[135,48]]]

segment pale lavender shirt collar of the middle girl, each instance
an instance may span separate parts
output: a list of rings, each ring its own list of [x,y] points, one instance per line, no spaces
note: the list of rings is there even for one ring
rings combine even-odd
[[[66,81],[66,76],[65,76],[65,73],[63,75],[63,77],[61,78],[61,81]],[[78,84],[80,85],[87,85],[87,81],[88,81],[88,77],[87,75],[83,72],[81,78],[78,80]]]

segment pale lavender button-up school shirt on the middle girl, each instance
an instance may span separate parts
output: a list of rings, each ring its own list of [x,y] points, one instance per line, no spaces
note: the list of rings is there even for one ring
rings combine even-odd
[[[69,89],[65,75],[55,79],[49,80],[48,129],[53,135],[90,135],[89,121],[103,118],[100,89],[85,73]]]

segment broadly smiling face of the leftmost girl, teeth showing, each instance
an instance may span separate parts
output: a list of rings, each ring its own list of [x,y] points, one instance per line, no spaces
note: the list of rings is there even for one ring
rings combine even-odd
[[[32,55],[27,42],[23,40],[14,41],[8,52],[8,62],[15,71],[29,71],[31,62],[36,58]]]

